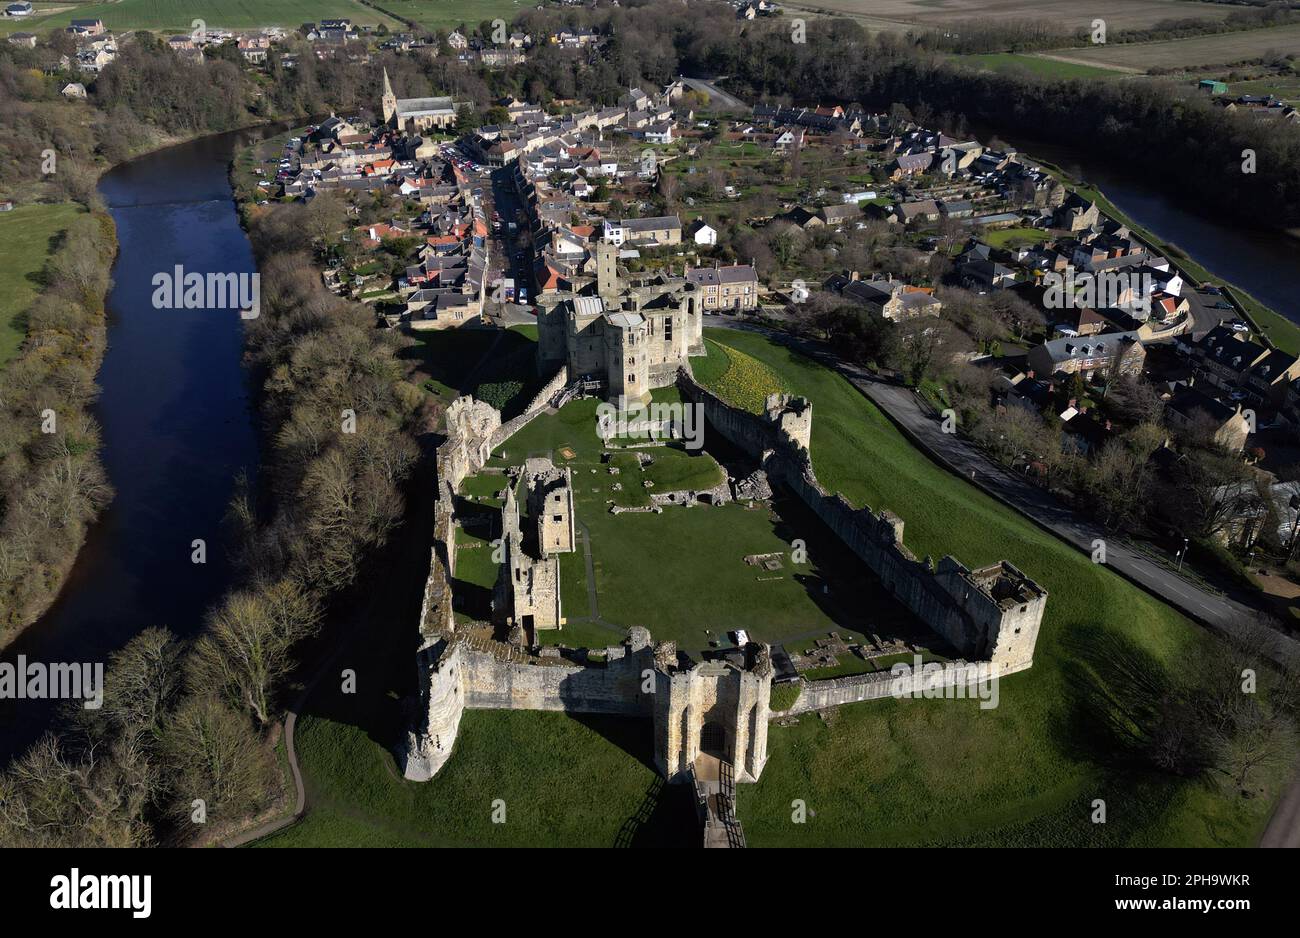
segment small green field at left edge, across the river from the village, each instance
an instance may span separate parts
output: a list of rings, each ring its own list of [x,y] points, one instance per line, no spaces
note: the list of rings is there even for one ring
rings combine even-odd
[[[18,353],[26,335],[22,313],[40,292],[38,278],[52,242],[78,212],[72,203],[0,212],[0,366]]]

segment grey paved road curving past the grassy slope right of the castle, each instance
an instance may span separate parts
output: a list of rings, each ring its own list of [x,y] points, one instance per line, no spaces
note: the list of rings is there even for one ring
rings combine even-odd
[[[942,433],[937,414],[932,413],[928,405],[909,388],[879,381],[867,369],[844,361],[819,343],[806,342],[736,320],[711,317],[708,325],[763,333],[781,344],[794,347],[835,368],[849,383],[884,411],[902,433],[932,460],[1089,556],[1093,542],[1105,540],[1108,566],[1148,592],[1160,596],[1188,617],[1223,633],[1238,631],[1243,622],[1258,617],[1258,612],[1251,607],[1228,596],[1208,592],[1153,563],[1128,544],[1108,537],[1100,525],[1078,514],[1072,508],[1032,482],[1004,469],[974,443],[956,434]],[[1268,651],[1277,660],[1294,657],[1300,655],[1300,643],[1284,635],[1277,635],[1273,647]]]

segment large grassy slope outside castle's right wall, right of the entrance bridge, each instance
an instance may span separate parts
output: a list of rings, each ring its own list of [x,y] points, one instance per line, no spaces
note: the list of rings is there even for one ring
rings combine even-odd
[[[750,843],[1254,842],[1271,798],[1121,774],[1101,731],[1114,707],[1140,708],[1183,657],[1214,653],[1205,631],[932,464],[837,374],[762,335],[706,333],[812,400],[812,463],[827,488],[897,512],[919,556],[1008,559],[1050,594],[1035,665],[1001,682],[996,709],[887,700],[841,708],[829,726],[811,716],[774,726],[762,781],[740,787]],[[790,824],[796,798],[816,812],[806,825]],[[1110,805],[1104,828],[1087,820],[1093,798]]]

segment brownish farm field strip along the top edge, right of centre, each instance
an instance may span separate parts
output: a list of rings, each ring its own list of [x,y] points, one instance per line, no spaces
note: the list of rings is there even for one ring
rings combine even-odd
[[[1235,6],[1180,0],[797,0],[788,9],[807,9],[852,16],[871,29],[906,30],[913,26],[942,26],[963,19],[1017,22],[1046,19],[1067,27],[1086,27],[1106,21],[1112,30],[1145,27],[1161,19],[1222,19]]]

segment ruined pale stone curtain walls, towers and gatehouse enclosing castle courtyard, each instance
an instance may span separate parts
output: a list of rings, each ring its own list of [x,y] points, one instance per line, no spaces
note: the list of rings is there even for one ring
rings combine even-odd
[[[451,757],[460,717],[469,709],[541,709],[640,716],[650,721],[655,765],[668,781],[696,780],[702,754],[732,767],[734,780],[758,781],[767,761],[767,725],[774,666],[768,646],[749,643],[710,660],[693,661],[672,642],[654,643],[642,627],[603,650],[529,646],[537,629],[560,627],[562,552],[578,548],[573,482],[550,460],[528,460],[511,481],[503,511],[506,561],[498,585],[507,609],[508,642],[458,631],[452,613],[455,492],[514,433],[563,400],[562,366],[525,412],[503,425],[500,414],[472,398],[455,400],[438,448],[434,544],[420,616],[420,699],[402,759],[411,780],[428,780]],[[970,569],[945,556],[916,559],[904,544],[896,514],[854,508],[827,492],[810,457],[812,405],[771,395],[764,412],[734,408],[698,385],[684,362],[675,373],[682,400],[703,408],[710,433],[749,455],[767,477],[802,501],[885,589],[962,656],[945,669],[948,686],[976,674],[1005,676],[1034,664],[1046,591],[1011,564]],[[528,504],[525,526],[515,495]],[[670,508],[668,511],[682,511]],[[786,713],[889,696],[889,674],[876,672],[831,681],[798,678],[801,695]],[[712,821],[710,821],[712,822]],[[707,838],[707,826],[706,826]]]

